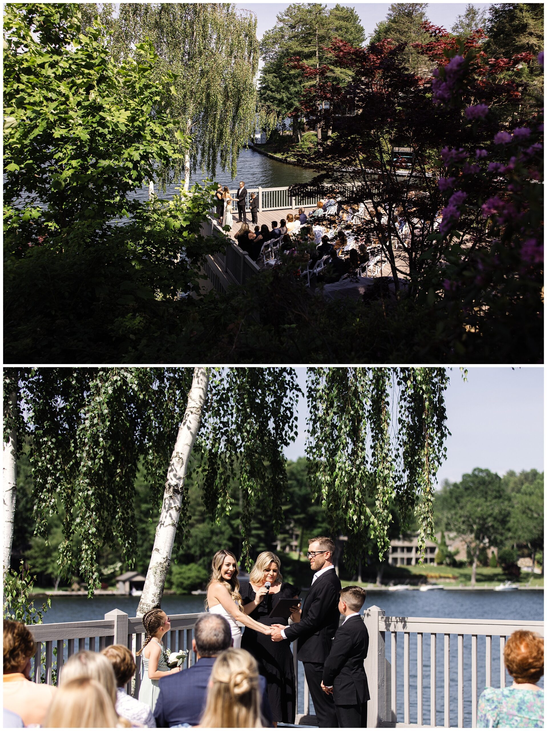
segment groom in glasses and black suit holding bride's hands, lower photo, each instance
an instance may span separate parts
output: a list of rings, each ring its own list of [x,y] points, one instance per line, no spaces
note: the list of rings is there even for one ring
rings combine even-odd
[[[337,728],[332,695],[323,692],[321,681],[324,662],[329,656],[334,632],[340,624],[338,600],[342,586],[332,563],[334,542],[330,538],[319,537],[311,539],[309,543],[307,557],[315,576],[304,600],[302,617],[290,626],[272,625],[272,640],[298,640],[298,659],[304,663],[319,728]]]

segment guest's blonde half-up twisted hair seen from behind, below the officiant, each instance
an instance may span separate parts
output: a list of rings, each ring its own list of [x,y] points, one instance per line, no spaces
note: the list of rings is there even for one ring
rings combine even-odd
[[[229,648],[215,660],[200,728],[264,728],[259,667],[245,650]]]

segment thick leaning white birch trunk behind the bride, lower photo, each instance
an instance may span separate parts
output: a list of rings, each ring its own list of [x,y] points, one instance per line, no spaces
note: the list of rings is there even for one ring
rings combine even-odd
[[[207,368],[194,368],[194,378],[188,393],[188,406],[186,406],[184,418],[177,433],[175,449],[167,470],[161,515],[156,528],[156,538],[154,539],[152,556],[150,556],[145,586],[137,608],[137,616],[139,617],[161,604],[161,598],[164,594],[165,577],[171,563],[171,553],[180,518],[180,506],[188,471],[188,461],[202,421],[208,386],[209,374]]]

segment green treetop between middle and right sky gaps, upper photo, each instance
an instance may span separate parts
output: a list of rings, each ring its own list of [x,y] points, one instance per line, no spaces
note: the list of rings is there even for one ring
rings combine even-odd
[[[402,50],[401,61],[413,74],[422,74],[428,68],[426,58],[410,45],[426,43],[430,39],[429,34],[421,27],[427,20],[427,5],[426,2],[391,3],[386,20],[380,20],[369,39],[370,43],[391,38],[397,44],[408,44]]]

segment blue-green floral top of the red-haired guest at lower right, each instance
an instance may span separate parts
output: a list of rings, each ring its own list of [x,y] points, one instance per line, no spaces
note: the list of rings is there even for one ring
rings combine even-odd
[[[486,688],[478,699],[477,728],[543,728],[543,690]]]

